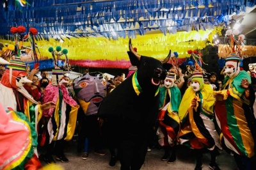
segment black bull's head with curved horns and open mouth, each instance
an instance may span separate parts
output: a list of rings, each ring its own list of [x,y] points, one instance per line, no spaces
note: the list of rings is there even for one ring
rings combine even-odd
[[[167,71],[163,68],[162,63],[166,63],[170,59],[171,52],[169,52],[168,56],[162,62],[151,57],[141,56],[132,48],[130,39],[129,51],[127,53],[129,54],[131,64],[138,67],[137,77],[141,88],[143,86],[146,88],[149,81],[154,86],[158,86],[160,81],[165,79]]]

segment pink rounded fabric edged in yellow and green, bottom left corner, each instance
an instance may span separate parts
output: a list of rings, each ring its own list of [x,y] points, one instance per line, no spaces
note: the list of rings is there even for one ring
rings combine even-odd
[[[39,169],[35,127],[22,112],[4,111],[0,104],[0,169]]]

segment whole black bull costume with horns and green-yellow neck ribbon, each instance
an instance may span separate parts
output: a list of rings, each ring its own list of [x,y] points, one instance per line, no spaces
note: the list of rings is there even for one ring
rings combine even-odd
[[[106,120],[108,130],[115,134],[111,139],[107,136],[107,140],[117,143],[121,169],[140,169],[147,153],[148,133],[156,123],[159,84],[165,79],[166,70],[161,61],[137,54],[131,39],[127,53],[138,70],[104,99],[98,116]],[[170,53],[162,62],[169,59]]]

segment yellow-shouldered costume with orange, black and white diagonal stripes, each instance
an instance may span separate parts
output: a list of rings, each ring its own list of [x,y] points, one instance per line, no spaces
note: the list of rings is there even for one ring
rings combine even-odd
[[[213,90],[209,84],[204,84],[203,89],[197,92],[193,91],[191,86],[186,90],[180,103],[182,107],[179,107],[180,144],[196,149],[213,149],[215,145],[221,148],[212,121],[215,101],[212,94]],[[191,100],[195,97],[198,100],[198,105],[194,109],[191,106]]]

